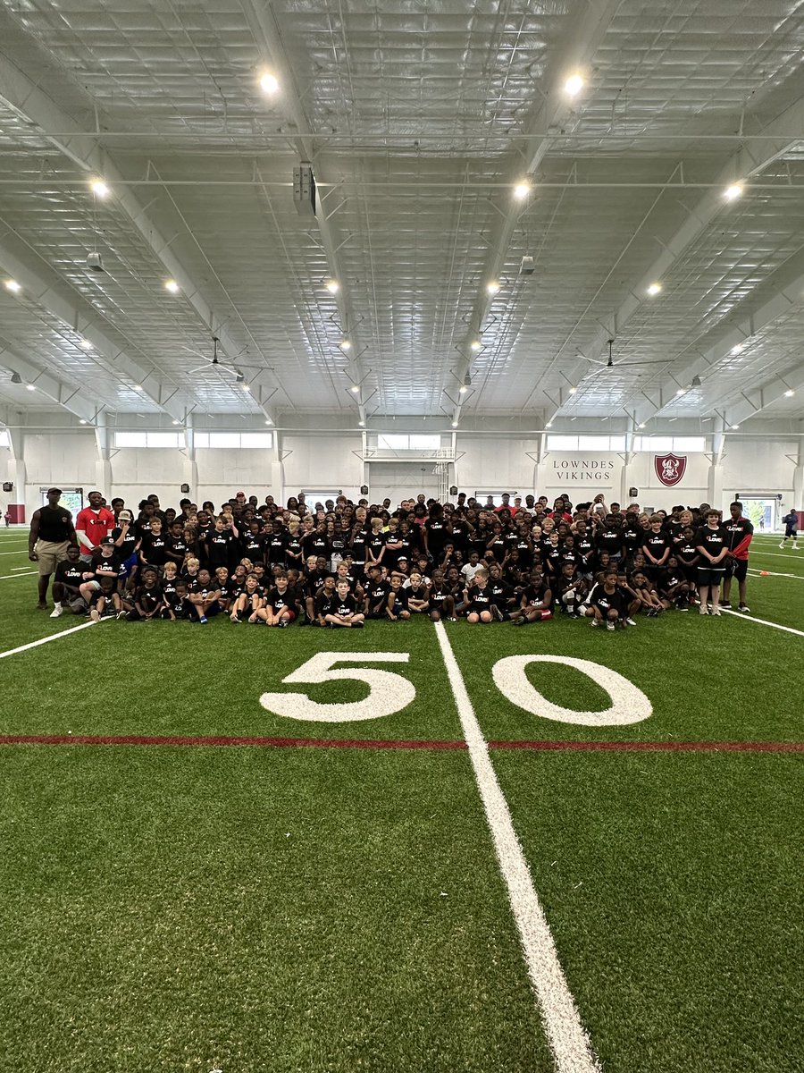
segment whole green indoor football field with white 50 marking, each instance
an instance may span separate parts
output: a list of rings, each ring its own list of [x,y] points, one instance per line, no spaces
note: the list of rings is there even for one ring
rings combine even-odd
[[[0,532],[4,1069],[804,1068],[778,541],[745,616],[324,631],[54,620]]]

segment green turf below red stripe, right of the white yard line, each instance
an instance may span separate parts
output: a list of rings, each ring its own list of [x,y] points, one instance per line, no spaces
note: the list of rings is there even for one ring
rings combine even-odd
[[[606,1073],[801,1068],[802,760],[494,753]]]

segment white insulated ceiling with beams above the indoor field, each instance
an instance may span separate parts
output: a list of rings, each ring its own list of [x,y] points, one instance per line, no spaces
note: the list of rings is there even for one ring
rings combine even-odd
[[[800,0],[0,0],[0,405],[796,421],[803,47]]]

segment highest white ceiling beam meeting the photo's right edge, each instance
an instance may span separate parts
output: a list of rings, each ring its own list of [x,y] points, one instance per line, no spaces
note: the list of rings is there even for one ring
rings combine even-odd
[[[795,141],[790,139],[790,131],[795,130],[804,130],[804,97],[800,97],[760,130],[755,131],[751,135],[746,135],[740,149],[732,153],[714,179],[715,188],[703,194],[676,232],[666,242],[662,242],[661,252],[651,266],[629,286],[623,302],[612,311],[604,327],[598,330],[594,342],[589,348],[589,357],[598,358],[604,353],[607,341],[622,335],[625,325],[644,302],[661,302],[660,296],[651,298],[647,295],[647,288],[651,283],[660,283],[666,279],[672,266],[704,233],[715,217],[728,209],[729,203],[723,196],[723,192],[728,186],[741,180],[749,180],[751,176],[763,172],[779,157],[785,156],[786,152],[801,143],[800,137]],[[672,189],[672,183],[668,189]],[[560,361],[570,338],[571,336],[568,336],[559,349],[547,372]],[[585,362],[574,361],[572,365],[564,371],[572,383],[579,383],[590,370]],[[683,381],[684,377],[676,373],[676,379]],[[552,414],[549,413],[548,420],[554,420],[560,413],[561,408],[553,411]]]

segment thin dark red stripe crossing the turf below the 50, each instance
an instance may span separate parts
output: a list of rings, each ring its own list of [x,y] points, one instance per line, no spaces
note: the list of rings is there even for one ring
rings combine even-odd
[[[465,741],[377,738],[158,736],[142,734],[0,734],[0,745],[263,746],[318,749],[465,749]],[[490,749],[537,752],[804,752],[801,741],[489,741]]]

